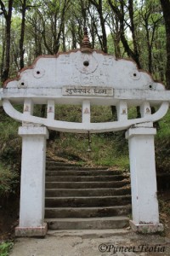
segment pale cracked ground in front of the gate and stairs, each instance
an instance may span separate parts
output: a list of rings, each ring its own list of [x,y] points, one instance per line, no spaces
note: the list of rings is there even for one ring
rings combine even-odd
[[[132,231],[50,231],[45,239],[19,238],[10,256],[169,256],[170,239]],[[138,252],[136,252],[138,251]]]

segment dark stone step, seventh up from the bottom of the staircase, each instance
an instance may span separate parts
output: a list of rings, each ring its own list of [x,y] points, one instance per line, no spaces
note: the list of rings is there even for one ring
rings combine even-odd
[[[123,175],[122,173],[117,173],[116,171],[108,170],[70,170],[70,171],[46,171],[46,176],[108,176],[108,175]]]

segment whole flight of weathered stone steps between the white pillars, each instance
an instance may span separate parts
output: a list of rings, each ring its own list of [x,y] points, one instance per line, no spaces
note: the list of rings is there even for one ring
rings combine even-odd
[[[121,229],[131,212],[129,176],[47,160],[45,221],[48,230]]]

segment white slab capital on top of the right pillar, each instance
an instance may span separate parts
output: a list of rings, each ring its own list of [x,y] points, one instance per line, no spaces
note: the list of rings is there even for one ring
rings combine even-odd
[[[126,132],[126,138],[139,135],[156,135],[156,128],[153,127],[131,127]]]

